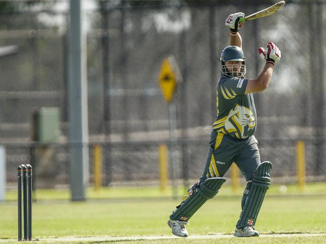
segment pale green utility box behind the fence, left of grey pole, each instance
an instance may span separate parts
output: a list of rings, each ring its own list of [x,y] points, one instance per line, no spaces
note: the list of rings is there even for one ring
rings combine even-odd
[[[41,108],[33,113],[33,141],[59,142],[59,109]]]

